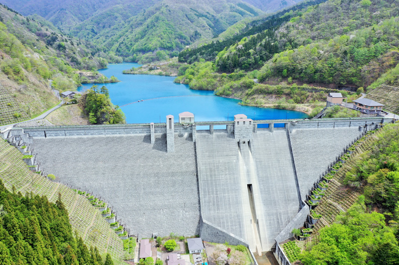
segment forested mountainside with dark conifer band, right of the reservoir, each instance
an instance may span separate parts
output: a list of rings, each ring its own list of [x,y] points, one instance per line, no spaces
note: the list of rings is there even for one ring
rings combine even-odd
[[[213,64],[187,67],[193,71],[178,81],[228,94],[231,85],[219,73],[254,70],[247,76],[271,85],[366,87],[399,62],[398,15],[397,0],[304,1],[232,38],[182,51],[180,62]]]

